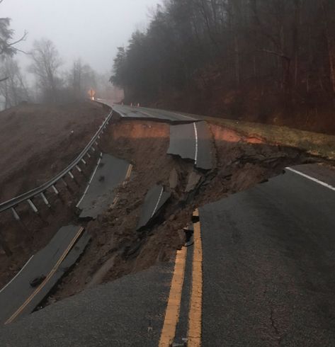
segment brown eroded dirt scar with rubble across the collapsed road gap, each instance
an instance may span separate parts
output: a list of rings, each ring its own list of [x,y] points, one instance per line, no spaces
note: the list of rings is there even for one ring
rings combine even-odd
[[[91,244],[49,302],[168,261],[185,242],[183,228],[191,222],[196,207],[281,174],[285,166],[310,160],[295,149],[255,143],[260,141],[216,125],[210,129],[216,169],[204,174],[195,173],[191,162],[166,155],[169,125],[114,120],[103,150],[130,161],[133,174],[118,188],[118,203],[87,225]],[[187,188],[191,174],[193,190]],[[136,232],[144,196],[156,183],[171,191],[171,199],[154,224]]]

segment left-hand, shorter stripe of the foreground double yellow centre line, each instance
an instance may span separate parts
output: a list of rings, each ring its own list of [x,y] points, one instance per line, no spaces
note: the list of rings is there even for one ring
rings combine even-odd
[[[183,279],[185,273],[187,248],[183,247],[176,254],[174,275],[171,281],[169,301],[166,307],[164,325],[161,331],[159,347],[169,347],[174,342],[176,335],[176,325],[179,319],[181,307],[181,291],[183,289]]]

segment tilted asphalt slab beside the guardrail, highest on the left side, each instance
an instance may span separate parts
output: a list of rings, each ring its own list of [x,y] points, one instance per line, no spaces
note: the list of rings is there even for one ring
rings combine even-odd
[[[96,171],[76,207],[81,210],[81,218],[95,219],[113,203],[113,190],[130,177],[132,165],[110,154],[103,154]]]

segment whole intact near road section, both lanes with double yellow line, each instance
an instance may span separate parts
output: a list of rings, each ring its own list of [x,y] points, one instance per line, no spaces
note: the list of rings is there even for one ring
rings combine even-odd
[[[177,327],[172,329],[171,341],[176,344],[200,339],[201,346],[332,346],[335,329],[327,307],[335,305],[334,275],[329,278],[327,268],[334,267],[335,220],[329,211],[335,206],[334,191],[327,189],[287,172],[205,205],[195,227],[199,234],[177,256],[174,269],[153,267],[82,292],[0,329],[2,341],[8,346],[23,346],[27,341],[31,346],[96,346],[97,341],[101,346],[112,342],[128,346],[134,341],[138,346],[169,346],[164,344],[171,335],[164,329],[169,319],[164,312],[174,302],[176,319],[171,321]],[[305,199],[305,193],[314,199]],[[271,199],[273,194],[278,201]],[[289,197],[299,208],[287,204]],[[304,216],[305,208],[314,211],[312,223]],[[318,224],[324,225],[321,234]],[[329,253],[315,253],[315,243]],[[203,285],[195,297],[199,275]],[[164,286],[166,281],[171,283],[170,290]],[[197,315],[193,317],[197,304],[200,326],[194,322]],[[16,334],[18,330],[23,333]]]

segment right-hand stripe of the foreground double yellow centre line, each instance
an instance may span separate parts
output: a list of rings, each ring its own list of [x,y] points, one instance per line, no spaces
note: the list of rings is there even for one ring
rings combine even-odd
[[[199,216],[198,210],[193,214]],[[201,316],[203,305],[203,246],[200,222],[194,225],[194,248],[192,269],[192,292],[188,314],[188,347],[201,346]]]

